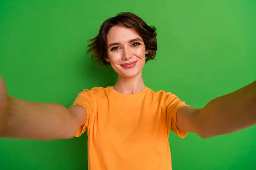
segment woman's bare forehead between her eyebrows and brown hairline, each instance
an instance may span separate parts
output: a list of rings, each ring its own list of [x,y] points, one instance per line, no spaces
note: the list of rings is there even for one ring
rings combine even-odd
[[[142,39],[134,29],[116,25],[109,29],[107,34],[107,43],[128,42],[135,38]]]

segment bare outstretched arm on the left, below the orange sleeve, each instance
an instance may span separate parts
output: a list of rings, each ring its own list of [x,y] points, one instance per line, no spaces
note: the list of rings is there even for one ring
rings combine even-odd
[[[36,103],[6,94],[0,77],[0,138],[68,139],[87,119],[83,106],[65,108],[56,103]]]

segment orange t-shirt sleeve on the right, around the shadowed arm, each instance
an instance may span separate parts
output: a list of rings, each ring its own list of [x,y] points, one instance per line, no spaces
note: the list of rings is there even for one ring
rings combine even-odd
[[[167,127],[170,127],[170,130],[172,130],[177,136],[180,138],[186,137],[188,134],[187,131],[184,131],[182,129],[179,129],[176,126],[176,116],[177,111],[179,108],[189,106],[186,104],[186,102],[180,100],[175,94],[168,94],[167,100],[166,100],[166,124]]]

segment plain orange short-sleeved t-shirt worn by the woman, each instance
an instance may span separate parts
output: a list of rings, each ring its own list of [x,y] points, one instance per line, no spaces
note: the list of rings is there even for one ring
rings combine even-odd
[[[73,105],[87,110],[76,137],[87,130],[89,170],[172,170],[169,132],[188,133],[176,127],[177,110],[188,106],[176,95],[96,87],[79,93]]]

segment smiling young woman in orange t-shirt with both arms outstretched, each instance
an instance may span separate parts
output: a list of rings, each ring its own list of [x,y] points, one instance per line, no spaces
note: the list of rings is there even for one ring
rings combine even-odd
[[[186,105],[175,94],[152,91],[142,77],[157,51],[156,29],[132,13],[106,20],[88,52],[111,65],[117,82],[85,89],[73,105],[35,103],[6,94],[0,80],[0,136],[52,140],[87,130],[90,170],[171,170],[170,131],[202,138],[256,124],[256,82],[212,99],[204,108]]]

